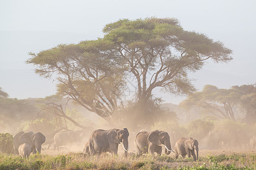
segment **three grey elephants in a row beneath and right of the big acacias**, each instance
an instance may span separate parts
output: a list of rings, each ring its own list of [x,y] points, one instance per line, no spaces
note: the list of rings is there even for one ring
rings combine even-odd
[[[84,153],[89,155],[100,155],[103,152],[110,152],[117,154],[118,145],[122,143],[125,156],[129,150],[129,131],[124,129],[110,129],[102,130],[98,129],[93,131],[90,135],[89,141],[84,147]],[[164,145],[164,153],[169,155],[171,152],[175,152],[175,159],[179,155],[185,158],[188,155],[190,158],[193,156],[194,160],[198,160],[199,143],[193,138],[180,138],[175,143],[175,151],[172,150],[170,136],[166,131],[141,131],[134,139],[134,146],[138,155],[150,153],[161,155],[162,145]],[[195,154],[196,151],[196,154]]]

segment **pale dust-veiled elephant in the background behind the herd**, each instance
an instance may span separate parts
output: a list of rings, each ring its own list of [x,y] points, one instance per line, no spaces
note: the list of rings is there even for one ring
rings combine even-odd
[[[72,145],[74,142],[79,143],[80,131],[61,130],[54,135],[53,141],[55,143],[54,150],[57,147],[59,151],[59,146]]]

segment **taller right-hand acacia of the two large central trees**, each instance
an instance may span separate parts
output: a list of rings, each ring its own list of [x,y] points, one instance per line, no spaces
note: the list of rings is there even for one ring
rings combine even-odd
[[[171,94],[191,94],[195,87],[189,72],[200,70],[208,59],[217,63],[232,59],[232,50],[222,42],[184,31],[177,19],[122,19],[107,24],[104,33],[137,80],[138,103],[143,108],[156,87]]]

